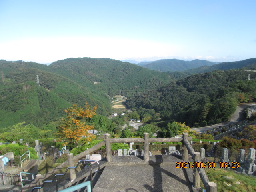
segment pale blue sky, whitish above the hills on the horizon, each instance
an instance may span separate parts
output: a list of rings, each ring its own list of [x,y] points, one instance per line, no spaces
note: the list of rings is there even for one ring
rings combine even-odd
[[[0,0],[0,59],[256,58],[255,0]]]

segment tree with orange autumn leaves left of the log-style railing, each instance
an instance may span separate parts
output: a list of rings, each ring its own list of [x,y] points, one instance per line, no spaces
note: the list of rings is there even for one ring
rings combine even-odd
[[[63,124],[58,127],[57,134],[65,145],[74,143],[78,147],[78,141],[87,142],[95,138],[93,134],[88,132],[88,130],[94,129],[94,126],[86,124],[86,119],[96,115],[96,108],[97,106],[94,106],[91,109],[86,103],[84,108],[73,104],[72,107],[64,110],[67,117],[62,119]]]

